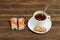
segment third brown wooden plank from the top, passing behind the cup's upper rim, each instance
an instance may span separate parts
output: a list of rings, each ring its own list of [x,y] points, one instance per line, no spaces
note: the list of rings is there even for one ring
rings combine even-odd
[[[35,11],[43,9],[0,9],[0,14],[29,14],[34,13]],[[59,14],[60,9],[47,9],[47,13],[57,13]]]

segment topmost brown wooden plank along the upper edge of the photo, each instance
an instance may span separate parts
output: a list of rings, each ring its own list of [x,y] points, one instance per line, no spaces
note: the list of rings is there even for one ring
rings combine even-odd
[[[60,4],[59,0],[0,0],[0,4]]]

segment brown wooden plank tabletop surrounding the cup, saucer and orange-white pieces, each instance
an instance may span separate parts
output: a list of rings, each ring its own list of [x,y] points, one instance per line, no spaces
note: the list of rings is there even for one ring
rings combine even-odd
[[[48,33],[39,35],[28,28],[10,30],[10,18],[24,17],[27,24],[33,13],[44,10],[46,4],[50,5],[47,13],[53,23]],[[60,40],[60,0],[0,0],[0,40]]]

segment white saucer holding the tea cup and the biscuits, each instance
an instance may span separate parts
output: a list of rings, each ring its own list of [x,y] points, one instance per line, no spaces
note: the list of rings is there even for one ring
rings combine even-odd
[[[35,32],[35,33],[43,34],[43,33],[48,32],[48,31],[50,30],[51,26],[52,26],[51,20],[48,20],[47,22],[48,22],[48,23],[47,23],[47,25],[46,25],[46,31],[45,31],[45,32],[36,32],[36,31],[34,31],[35,25],[34,25],[33,17],[31,17],[31,18],[29,19],[29,21],[28,21],[28,28],[29,28],[31,31]]]

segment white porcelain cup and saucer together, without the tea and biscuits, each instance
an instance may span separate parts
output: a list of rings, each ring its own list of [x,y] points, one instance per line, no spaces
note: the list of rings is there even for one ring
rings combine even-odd
[[[45,19],[45,20],[39,21],[39,20],[36,20],[36,19],[34,18],[36,14],[40,14],[40,13],[44,13],[44,15],[46,16],[46,19]],[[34,31],[34,27],[37,26],[37,25],[39,25],[39,26],[41,26],[41,27],[45,27],[45,28],[46,28],[46,31],[45,31],[45,32],[36,32],[36,31]],[[43,33],[48,32],[48,31],[50,30],[51,26],[52,26],[51,18],[50,18],[50,16],[47,15],[47,13],[44,12],[44,11],[36,11],[36,12],[33,14],[33,16],[32,16],[32,17],[29,19],[29,21],[28,21],[28,28],[29,28],[31,31],[33,31],[33,32],[35,32],[35,33],[39,33],[39,34],[43,34]]]

